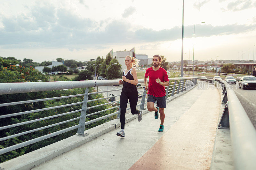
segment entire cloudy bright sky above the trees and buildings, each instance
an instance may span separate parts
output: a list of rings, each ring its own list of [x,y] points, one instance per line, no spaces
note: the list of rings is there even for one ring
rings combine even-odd
[[[86,61],[135,47],[179,61],[181,26],[182,0],[1,0],[0,56]],[[253,48],[256,60],[256,0],[185,0],[184,59],[193,44],[195,60],[252,60]]]

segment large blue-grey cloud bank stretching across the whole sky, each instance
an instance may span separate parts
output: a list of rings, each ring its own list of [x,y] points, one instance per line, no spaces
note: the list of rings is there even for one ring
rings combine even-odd
[[[181,38],[181,27],[153,30],[137,27],[123,20],[94,21],[77,16],[72,10],[56,8],[50,4],[32,8],[32,12],[12,17],[2,17],[0,48],[68,48],[70,50],[97,47],[110,43],[155,43]],[[247,33],[255,30],[252,25],[196,25],[196,37]],[[133,28],[133,29],[131,29]],[[184,27],[184,37],[191,38],[193,25]],[[146,49],[146,46],[141,46]],[[150,46],[148,47],[150,48]]]

